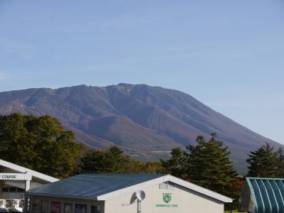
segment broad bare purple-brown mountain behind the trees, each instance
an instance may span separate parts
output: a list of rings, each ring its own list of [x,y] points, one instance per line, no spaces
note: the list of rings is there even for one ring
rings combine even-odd
[[[174,147],[216,132],[244,173],[249,151],[281,146],[205,106],[189,94],[146,84],[0,92],[0,114],[50,114],[89,146],[121,146],[135,158],[164,158]]]

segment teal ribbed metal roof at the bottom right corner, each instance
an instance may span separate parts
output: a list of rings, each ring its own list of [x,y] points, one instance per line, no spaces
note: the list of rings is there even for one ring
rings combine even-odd
[[[246,202],[244,199],[248,199],[245,195],[248,188],[253,203],[253,213],[284,212],[284,179],[246,178],[239,200],[240,208]]]

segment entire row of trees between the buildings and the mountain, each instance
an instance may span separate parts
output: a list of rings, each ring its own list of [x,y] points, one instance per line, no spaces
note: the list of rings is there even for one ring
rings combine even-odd
[[[77,143],[72,131],[51,116],[11,114],[0,116],[1,159],[32,170],[67,178],[81,172],[94,173],[170,173],[238,202],[244,182],[233,168],[228,148],[212,133],[206,140],[197,136],[194,146],[173,148],[168,160],[142,163],[112,146],[107,150]],[[249,177],[283,178],[284,153],[266,143],[251,151]]]

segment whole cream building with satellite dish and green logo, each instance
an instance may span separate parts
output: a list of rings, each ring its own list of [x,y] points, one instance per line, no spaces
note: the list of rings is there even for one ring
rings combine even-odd
[[[172,175],[82,174],[27,196],[31,213],[224,213],[233,201]]]

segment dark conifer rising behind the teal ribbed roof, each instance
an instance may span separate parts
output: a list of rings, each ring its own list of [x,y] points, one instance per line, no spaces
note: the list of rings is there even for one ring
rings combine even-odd
[[[256,151],[251,151],[246,162],[249,163],[249,177],[278,177],[277,153],[269,143],[264,144]]]

